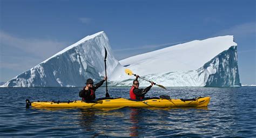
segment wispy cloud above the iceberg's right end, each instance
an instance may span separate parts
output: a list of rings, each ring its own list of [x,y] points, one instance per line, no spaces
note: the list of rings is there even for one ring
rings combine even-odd
[[[220,36],[220,35],[231,34],[236,37],[246,37],[248,34],[252,34],[255,32],[256,32],[256,22],[251,22],[251,23],[235,25],[229,29],[220,31],[215,35]]]

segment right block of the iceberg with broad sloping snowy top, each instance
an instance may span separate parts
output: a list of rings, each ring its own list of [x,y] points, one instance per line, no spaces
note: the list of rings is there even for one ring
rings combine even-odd
[[[139,54],[120,60],[119,63],[166,87],[241,86],[237,44],[233,36],[194,40]],[[113,79],[113,86],[130,86],[134,79],[124,75],[116,78]],[[149,82],[140,81],[140,86],[148,85]]]

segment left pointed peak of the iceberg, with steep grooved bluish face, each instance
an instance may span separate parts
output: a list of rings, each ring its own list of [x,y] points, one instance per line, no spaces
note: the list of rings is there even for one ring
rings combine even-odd
[[[99,81],[105,75],[104,46],[108,52],[107,75],[111,75],[114,68],[121,65],[113,57],[106,34],[98,32],[66,47],[1,87],[75,87],[84,86],[87,78]]]

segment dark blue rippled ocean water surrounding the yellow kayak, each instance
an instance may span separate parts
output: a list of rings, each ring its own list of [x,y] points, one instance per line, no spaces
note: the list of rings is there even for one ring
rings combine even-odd
[[[173,99],[211,96],[206,108],[120,108],[46,110],[25,108],[30,101],[78,100],[81,88],[0,88],[0,136],[239,136],[256,137],[256,87],[153,87],[147,96]],[[130,88],[109,88],[129,98]],[[96,91],[105,96],[105,88]]]

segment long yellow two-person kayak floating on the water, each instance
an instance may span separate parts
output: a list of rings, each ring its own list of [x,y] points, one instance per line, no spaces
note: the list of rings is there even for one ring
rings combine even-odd
[[[26,99],[26,108],[122,108],[122,107],[205,107],[210,97],[193,99],[165,99],[146,98],[144,100],[130,100],[125,98],[101,98],[94,101],[34,101]]]

